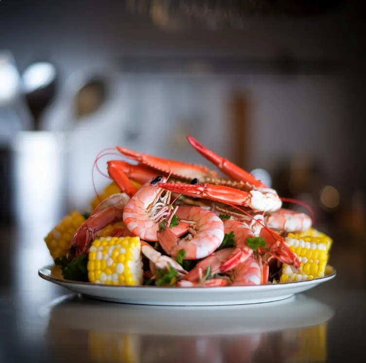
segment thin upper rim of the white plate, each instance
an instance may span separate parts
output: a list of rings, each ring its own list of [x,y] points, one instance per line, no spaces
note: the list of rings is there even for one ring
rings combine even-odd
[[[155,291],[181,291],[181,292],[197,292],[197,291],[218,291],[218,289],[221,291],[222,289],[226,289],[226,291],[243,291],[243,289],[245,289],[246,291],[258,291],[258,290],[263,290],[263,289],[269,289],[269,290],[276,290],[279,289],[281,287],[285,288],[286,286],[296,286],[296,284],[301,284],[303,285],[313,285],[313,284],[318,284],[318,283],[322,283],[322,282],[326,282],[329,281],[331,279],[333,279],[334,277],[336,277],[337,275],[337,270],[331,266],[331,265],[327,265],[326,268],[330,269],[330,274],[324,276],[324,277],[317,277],[314,278],[312,280],[305,280],[305,281],[289,281],[289,282],[281,282],[278,284],[264,284],[264,285],[251,285],[251,286],[215,286],[215,287],[196,287],[196,286],[192,286],[192,287],[185,287],[185,288],[181,288],[181,287],[176,287],[176,286],[150,286],[150,285],[138,285],[138,286],[131,286],[131,285],[106,285],[106,284],[95,284],[95,283],[91,283],[91,282],[85,282],[85,281],[73,281],[73,280],[66,280],[64,278],[58,278],[58,277],[52,277],[49,276],[47,274],[45,274],[42,270],[51,270],[52,267],[56,267],[55,264],[48,264],[45,265],[43,267],[41,267],[40,269],[38,269],[38,276],[43,278],[46,281],[50,281],[52,283],[56,283],[56,284],[63,284],[63,285],[71,285],[71,286],[75,286],[75,285],[83,285],[83,286],[88,286],[88,287],[98,287],[98,288],[105,288],[105,289],[131,289],[131,290],[135,290],[135,289],[154,289]]]

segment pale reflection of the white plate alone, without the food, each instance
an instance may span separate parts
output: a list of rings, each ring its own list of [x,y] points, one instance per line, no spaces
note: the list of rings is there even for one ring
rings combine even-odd
[[[106,304],[80,295],[63,296],[39,309],[52,327],[106,333],[217,336],[313,327],[329,321],[334,310],[297,294],[265,304],[226,306],[143,306]],[[92,317],[92,319],[91,319]]]

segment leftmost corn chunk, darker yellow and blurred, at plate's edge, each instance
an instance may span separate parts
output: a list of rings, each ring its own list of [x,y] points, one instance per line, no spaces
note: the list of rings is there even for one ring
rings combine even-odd
[[[80,213],[73,211],[70,215],[65,216],[45,237],[44,241],[53,259],[61,259],[66,256],[72,237],[85,221],[86,219]]]

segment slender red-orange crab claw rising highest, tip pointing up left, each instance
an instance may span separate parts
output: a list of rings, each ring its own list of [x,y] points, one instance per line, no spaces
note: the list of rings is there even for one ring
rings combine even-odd
[[[213,151],[209,150],[207,147],[199,143],[192,136],[187,136],[188,142],[200,153],[203,157],[209,160],[211,163],[215,164],[218,169],[225,173],[230,178],[237,182],[245,181],[248,184],[256,188],[267,188],[260,180],[257,180],[252,174],[246,172],[245,170],[239,168],[237,165],[233,164],[231,161],[225,159],[222,156],[218,156]]]

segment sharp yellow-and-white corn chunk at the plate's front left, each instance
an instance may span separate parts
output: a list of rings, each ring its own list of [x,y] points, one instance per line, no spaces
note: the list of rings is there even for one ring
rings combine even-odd
[[[108,285],[142,285],[139,237],[100,237],[89,249],[89,281]]]

